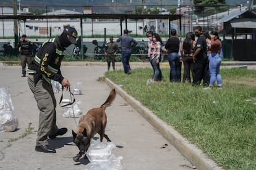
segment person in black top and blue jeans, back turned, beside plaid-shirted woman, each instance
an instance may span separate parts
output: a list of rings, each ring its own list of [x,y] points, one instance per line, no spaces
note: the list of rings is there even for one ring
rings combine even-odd
[[[181,71],[180,63],[181,59],[178,54],[179,52],[179,38],[177,36],[177,31],[171,30],[171,38],[165,44],[165,48],[168,51],[168,61],[170,65],[170,81],[180,82],[181,81]]]

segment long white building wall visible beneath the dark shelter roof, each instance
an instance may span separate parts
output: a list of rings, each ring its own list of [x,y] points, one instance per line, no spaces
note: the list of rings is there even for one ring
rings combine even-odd
[[[164,28],[163,28],[164,22]],[[28,36],[56,36],[62,33],[64,25],[70,25],[77,29],[80,34],[80,20],[28,20],[27,22],[20,21],[20,36],[25,33]],[[127,21],[127,29],[132,31],[131,34],[143,34],[143,28],[147,25],[147,28],[151,28],[152,25],[155,31],[161,31],[161,33],[168,33],[168,21],[161,20],[142,20]],[[156,26],[158,25],[158,26]],[[83,20],[83,35],[90,36],[92,34],[105,33],[106,28],[107,35],[121,34],[121,26],[119,20],[114,21],[101,21],[98,20]],[[122,30],[126,29],[126,23],[122,22]],[[14,21],[2,20],[0,21],[0,37],[14,36]]]

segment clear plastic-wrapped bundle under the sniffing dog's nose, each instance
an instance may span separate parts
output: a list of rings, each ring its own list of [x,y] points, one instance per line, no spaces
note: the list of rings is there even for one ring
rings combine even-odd
[[[87,158],[90,161],[84,170],[124,170],[121,164],[122,156],[116,158],[111,150],[116,148],[113,142],[104,144],[99,140],[91,140],[90,147],[87,150]]]

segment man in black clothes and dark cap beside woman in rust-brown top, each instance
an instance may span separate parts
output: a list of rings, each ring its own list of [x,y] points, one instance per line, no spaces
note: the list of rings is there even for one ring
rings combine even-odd
[[[193,86],[200,85],[200,81],[203,79],[203,71],[207,65],[207,42],[205,36],[203,36],[203,30],[201,26],[195,27],[195,36],[198,37],[195,44],[193,58]]]

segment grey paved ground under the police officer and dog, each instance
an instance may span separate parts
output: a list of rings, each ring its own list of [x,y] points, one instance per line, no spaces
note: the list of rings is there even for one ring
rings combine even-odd
[[[57,107],[59,127],[69,131],[62,137],[49,140],[57,153],[35,152],[36,129],[38,127],[38,109],[27,78],[21,78],[20,66],[4,67],[0,65],[0,87],[8,87],[14,104],[14,115],[19,118],[19,129],[15,132],[0,133],[0,169],[84,169],[88,161],[75,163],[72,157],[78,148],[72,142],[72,129],[76,124],[73,118],[63,118],[66,109]],[[97,79],[103,75],[105,67],[79,66],[62,67],[62,74],[72,83],[82,82],[82,95],[75,95],[81,101],[83,113],[105,102],[111,88]],[[126,75],[124,75],[126,76]],[[56,94],[59,101],[61,94]],[[64,93],[64,99],[68,97]],[[191,169],[192,164],[184,158],[173,145],[151,126],[133,107],[117,95],[111,107],[106,109],[108,125],[106,134],[118,147],[114,155],[123,156],[121,161],[126,169]],[[77,121],[79,121],[77,119]],[[19,139],[32,123],[33,133]],[[98,137],[98,136],[96,136]],[[14,142],[9,139],[17,138]],[[106,142],[106,140],[104,140]],[[163,145],[168,147],[163,148]],[[190,167],[190,168],[189,168]]]

